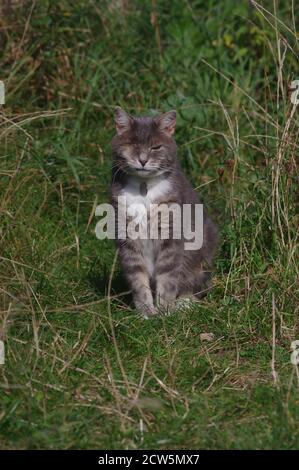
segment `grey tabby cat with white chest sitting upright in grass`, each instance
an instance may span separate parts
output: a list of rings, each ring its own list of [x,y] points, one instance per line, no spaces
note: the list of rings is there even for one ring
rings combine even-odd
[[[177,159],[175,111],[154,118],[132,117],[117,107],[115,124],[111,199],[116,212],[118,196],[125,196],[127,207],[135,203],[146,208],[149,203],[199,204]],[[118,239],[121,264],[137,310],[148,317],[175,308],[181,297],[201,298],[209,287],[217,238],[216,226],[204,211],[203,245],[198,250],[186,250],[184,237]]]

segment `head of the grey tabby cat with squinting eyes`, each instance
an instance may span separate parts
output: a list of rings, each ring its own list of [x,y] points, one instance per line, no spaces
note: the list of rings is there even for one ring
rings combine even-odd
[[[141,178],[171,171],[176,165],[175,124],[175,111],[157,117],[133,117],[116,107],[117,134],[112,140],[116,166]]]

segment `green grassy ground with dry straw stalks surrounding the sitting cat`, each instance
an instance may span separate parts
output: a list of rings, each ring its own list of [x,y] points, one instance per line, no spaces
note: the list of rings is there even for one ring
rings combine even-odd
[[[0,447],[299,448],[293,2],[12,3]],[[178,111],[182,165],[221,231],[214,289],[191,311],[141,320],[95,237],[115,104]]]

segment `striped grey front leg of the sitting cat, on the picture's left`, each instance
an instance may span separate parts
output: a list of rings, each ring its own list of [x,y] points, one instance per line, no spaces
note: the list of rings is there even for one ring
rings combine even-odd
[[[128,239],[121,244],[119,253],[126,279],[132,291],[134,305],[144,317],[149,317],[155,315],[157,311],[154,306],[149,274],[139,248],[138,240]]]

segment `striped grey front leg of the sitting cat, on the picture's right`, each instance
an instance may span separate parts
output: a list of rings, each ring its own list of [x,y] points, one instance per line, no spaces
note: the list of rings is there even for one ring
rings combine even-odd
[[[179,240],[165,240],[156,261],[155,285],[158,308],[170,310],[175,306],[179,292],[182,264],[182,246]]]

